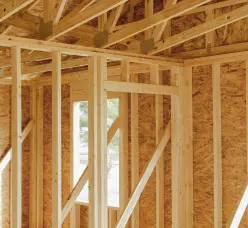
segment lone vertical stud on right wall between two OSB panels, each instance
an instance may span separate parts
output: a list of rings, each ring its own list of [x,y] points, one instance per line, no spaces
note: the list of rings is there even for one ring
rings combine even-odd
[[[222,150],[220,64],[212,65],[213,80],[213,150],[214,150],[214,227],[222,226]]]

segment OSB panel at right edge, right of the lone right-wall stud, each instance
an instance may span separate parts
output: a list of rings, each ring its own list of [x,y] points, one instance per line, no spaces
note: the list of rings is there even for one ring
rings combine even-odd
[[[230,222],[247,186],[244,63],[222,66],[223,226]],[[244,216],[240,227],[247,227]]]

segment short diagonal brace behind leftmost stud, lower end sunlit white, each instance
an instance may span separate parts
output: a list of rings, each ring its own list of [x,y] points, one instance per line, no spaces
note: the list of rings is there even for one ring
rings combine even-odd
[[[30,120],[27,126],[24,128],[21,136],[21,143],[26,139],[28,134],[33,128],[33,121]],[[8,150],[8,152],[5,154],[5,156],[0,161],[0,174],[3,172],[3,170],[6,168],[6,166],[9,164],[10,160],[12,158],[12,148]]]

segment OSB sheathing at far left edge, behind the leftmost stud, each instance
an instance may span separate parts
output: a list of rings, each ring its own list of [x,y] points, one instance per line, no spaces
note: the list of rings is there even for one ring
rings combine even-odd
[[[29,122],[30,91],[22,87],[22,128]],[[0,156],[4,156],[11,143],[11,87],[0,86]],[[29,137],[22,144],[22,220],[23,227],[29,227]],[[0,227],[10,227],[10,175],[8,165],[0,178]]]

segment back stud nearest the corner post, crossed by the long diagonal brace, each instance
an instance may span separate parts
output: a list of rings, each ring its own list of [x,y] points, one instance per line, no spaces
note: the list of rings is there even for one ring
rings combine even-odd
[[[152,65],[150,70],[150,81],[152,84],[161,85],[162,75],[158,65]],[[156,120],[156,145],[160,142],[163,134],[163,96],[155,96],[155,120]],[[161,155],[156,166],[156,227],[164,227],[164,156]]]

